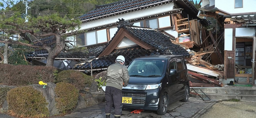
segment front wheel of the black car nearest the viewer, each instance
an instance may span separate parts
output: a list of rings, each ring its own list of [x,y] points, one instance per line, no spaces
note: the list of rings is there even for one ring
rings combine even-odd
[[[165,94],[162,94],[160,97],[160,108],[157,111],[157,114],[159,115],[164,115],[167,111],[167,105],[168,105],[168,99],[167,96]]]

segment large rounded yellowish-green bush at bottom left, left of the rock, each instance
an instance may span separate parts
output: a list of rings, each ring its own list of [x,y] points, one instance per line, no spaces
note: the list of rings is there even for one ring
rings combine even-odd
[[[7,92],[10,113],[20,117],[42,118],[49,116],[48,103],[43,93],[32,86],[22,86]]]

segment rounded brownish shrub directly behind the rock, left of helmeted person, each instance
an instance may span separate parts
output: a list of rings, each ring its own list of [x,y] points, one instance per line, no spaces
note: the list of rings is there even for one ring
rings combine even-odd
[[[64,70],[58,73],[55,83],[66,82],[74,85],[78,90],[84,90],[86,84],[91,85],[92,76],[75,70]]]

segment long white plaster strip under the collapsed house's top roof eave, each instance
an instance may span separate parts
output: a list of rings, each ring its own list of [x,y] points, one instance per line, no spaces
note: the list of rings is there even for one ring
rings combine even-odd
[[[120,19],[124,18],[124,20],[130,20],[130,19],[141,18],[141,17],[153,15],[153,14],[171,11],[173,9],[173,6],[174,6],[174,3],[171,2],[168,4],[149,7],[149,8],[141,9],[138,11],[131,11],[128,13],[126,12],[126,13],[122,13],[122,14],[115,15],[115,16],[100,18],[97,20],[83,23],[81,25],[80,30],[97,27],[97,26],[102,26],[102,25],[106,25],[106,24],[116,23],[116,21],[118,21],[118,18],[120,18]]]

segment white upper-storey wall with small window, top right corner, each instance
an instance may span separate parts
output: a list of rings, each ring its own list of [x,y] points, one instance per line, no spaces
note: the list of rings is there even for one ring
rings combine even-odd
[[[256,12],[256,0],[243,0],[243,8],[235,8],[235,0],[215,0],[215,7],[228,13]]]

